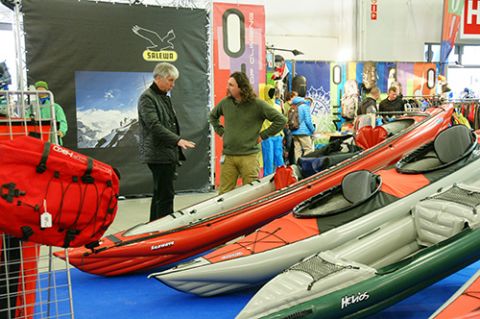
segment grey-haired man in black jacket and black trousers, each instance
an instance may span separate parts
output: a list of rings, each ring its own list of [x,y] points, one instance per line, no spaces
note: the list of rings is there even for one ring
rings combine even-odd
[[[180,127],[167,93],[175,86],[179,73],[170,63],[159,63],[153,70],[153,83],[138,100],[140,158],[153,175],[150,221],[173,213],[176,167],[184,161],[182,149],[195,143],[180,137]]]

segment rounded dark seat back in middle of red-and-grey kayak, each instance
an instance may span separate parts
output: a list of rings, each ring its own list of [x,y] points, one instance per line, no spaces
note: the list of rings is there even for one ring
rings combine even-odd
[[[342,180],[343,197],[350,203],[368,199],[377,189],[377,175],[361,170],[351,172]]]

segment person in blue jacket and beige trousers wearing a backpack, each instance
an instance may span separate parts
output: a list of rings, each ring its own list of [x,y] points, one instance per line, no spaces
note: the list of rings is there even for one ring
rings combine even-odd
[[[297,96],[292,100],[289,110],[288,123],[293,135],[295,163],[302,155],[313,152],[312,135],[315,132],[315,126],[310,115],[310,104],[310,100]],[[297,128],[295,128],[295,115],[292,109],[297,110]]]

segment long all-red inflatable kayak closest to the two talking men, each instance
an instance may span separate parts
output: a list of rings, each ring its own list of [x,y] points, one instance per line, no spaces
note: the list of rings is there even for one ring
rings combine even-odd
[[[93,249],[69,249],[69,261],[82,271],[114,276],[170,265],[249,233],[292,210],[300,202],[341,182],[361,169],[376,171],[396,163],[419,145],[432,141],[450,125],[452,106],[431,109],[411,118],[414,124],[325,171],[196,223],[170,230],[106,236]],[[412,121],[413,123],[413,121]],[[147,224],[148,225],[148,224]],[[138,230],[137,226],[136,229]],[[64,253],[56,256],[64,258]]]

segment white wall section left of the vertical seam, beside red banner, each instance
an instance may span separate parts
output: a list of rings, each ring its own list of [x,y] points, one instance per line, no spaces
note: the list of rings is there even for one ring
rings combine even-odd
[[[267,44],[302,51],[302,60],[336,60],[348,49],[352,59],[354,9],[355,0],[266,1]]]

